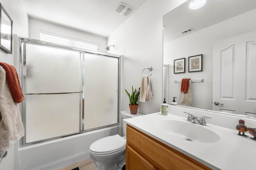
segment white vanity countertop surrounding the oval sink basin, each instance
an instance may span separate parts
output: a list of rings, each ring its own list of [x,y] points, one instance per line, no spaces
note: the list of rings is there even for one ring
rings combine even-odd
[[[246,133],[248,137],[239,136],[238,131],[235,128],[238,123],[234,124],[234,129],[207,123],[207,126],[203,127],[217,133],[220,136],[220,140],[214,143],[201,143],[199,141],[186,141],[177,137],[175,134],[167,134],[164,131],[161,131],[155,126],[156,121],[161,119],[187,122],[186,117],[184,116],[180,117],[170,113],[168,115],[161,115],[160,112],[124,119],[124,121],[132,127],[135,127],[158,141],[198,160],[214,170],[256,169],[256,141],[250,139],[252,135],[249,133]],[[214,120],[211,122],[213,121]]]

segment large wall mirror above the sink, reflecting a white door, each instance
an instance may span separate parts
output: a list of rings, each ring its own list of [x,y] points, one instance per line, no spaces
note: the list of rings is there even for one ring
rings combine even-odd
[[[197,10],[190,2],[164,16],[167,103],[179,104],[190,78],[193,107],[256,117],[256,0],[207,0]],[[189,57],[201,54],[202,71],[188,72]],[[182,58],[185,72],[174,74]]]

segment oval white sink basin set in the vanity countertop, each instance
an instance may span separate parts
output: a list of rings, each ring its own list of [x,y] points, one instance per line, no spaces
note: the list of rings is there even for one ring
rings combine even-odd
[[[191,122],[158,120],[155,122],[155,126],[161,131],[164,131],[164,133],[172,133],[188,141],[214,143],[220,140],[220,136],[215,132],[206,129],[202,125]]]

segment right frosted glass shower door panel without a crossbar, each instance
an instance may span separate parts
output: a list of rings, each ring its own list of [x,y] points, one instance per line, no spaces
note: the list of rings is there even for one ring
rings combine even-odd
[[[119,60],[84,56],[84,130],[117,123]]]

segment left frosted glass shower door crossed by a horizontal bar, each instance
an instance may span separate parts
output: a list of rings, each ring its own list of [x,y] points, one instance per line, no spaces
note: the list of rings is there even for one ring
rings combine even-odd
[[[30,43],[24,46],[26,143],[79,132],[82,53]]]

